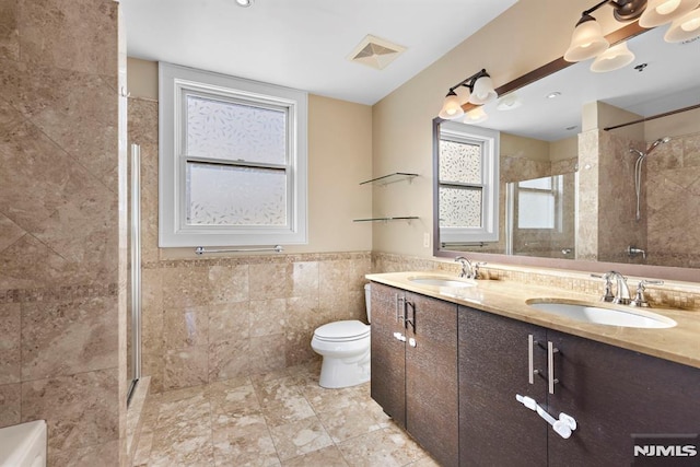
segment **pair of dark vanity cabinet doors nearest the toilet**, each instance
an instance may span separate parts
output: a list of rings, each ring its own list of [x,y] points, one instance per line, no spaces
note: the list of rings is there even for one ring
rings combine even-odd
[[[372,284],[372,398],[443,466],[458,463],[457,305]]]

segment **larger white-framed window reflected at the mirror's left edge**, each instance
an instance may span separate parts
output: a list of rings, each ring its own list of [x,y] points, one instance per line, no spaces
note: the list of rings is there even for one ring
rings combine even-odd
[[[440,241],[498,241],[499,132],[443,121],[438,153]]]

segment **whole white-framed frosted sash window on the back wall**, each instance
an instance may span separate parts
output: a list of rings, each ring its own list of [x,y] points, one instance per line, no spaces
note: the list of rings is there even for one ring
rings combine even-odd
[[[306,243],[306,93],[159,70],[160,246]]]

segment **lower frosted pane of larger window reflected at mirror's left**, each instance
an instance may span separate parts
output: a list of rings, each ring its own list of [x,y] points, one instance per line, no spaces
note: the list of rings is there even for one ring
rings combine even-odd
[[[440,226],[480,227],[481,188],[440,187]]]

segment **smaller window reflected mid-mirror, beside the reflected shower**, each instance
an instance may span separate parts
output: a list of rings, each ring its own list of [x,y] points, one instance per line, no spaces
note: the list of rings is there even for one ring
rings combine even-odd
[[[541,177],[517,184],[517,227],[561,230],[562,177]]]

